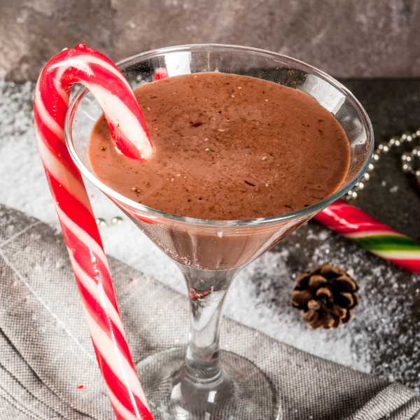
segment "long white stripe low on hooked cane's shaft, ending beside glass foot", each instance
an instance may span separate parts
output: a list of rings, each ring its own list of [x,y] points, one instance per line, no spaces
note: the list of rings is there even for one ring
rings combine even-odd
[[[111,370],[116,377],[127,386],[129,393],[132,392],[137,395],[141,402],[145,404],[146,395],[144,395],[143,389],[141,388],[137,372],[130,366],[130,363],[128,363],[120,349],[118,349],[117,344],[113,342],[97,322],[94,321],[92,316],[90,316],[87,309],[85,310],[85,315],[92,341],[95,346],[97,346],[102,358],[104,358],[109,367],[111,367]]]

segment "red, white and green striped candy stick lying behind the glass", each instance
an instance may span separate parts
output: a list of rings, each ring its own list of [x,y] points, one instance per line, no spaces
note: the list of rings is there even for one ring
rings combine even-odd
[[[420,244],[339,199],[314,219],[402,268],[420,274]]]

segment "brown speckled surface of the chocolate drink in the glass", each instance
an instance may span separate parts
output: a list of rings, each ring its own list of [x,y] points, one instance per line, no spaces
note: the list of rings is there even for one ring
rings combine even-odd
[[[215,72],[146,83],[134,94],[152,157],[118,153],[104,116],[88,154],[100,181],[153,209],[211,220],[276,216],[328,197],[349,169],[341,125],[300,90]]]

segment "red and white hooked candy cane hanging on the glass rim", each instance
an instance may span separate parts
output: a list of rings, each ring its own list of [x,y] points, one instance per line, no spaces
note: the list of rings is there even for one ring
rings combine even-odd
[[[148,158],[152,144],[130,85],[104,55],[82,43],[59,52],[45,65],[35,91],[36,137],[99,369],[119,420],[151,420],[89,198],[64,142],[64,118],[73,83],[82,83],[94,94],[121,153]]]

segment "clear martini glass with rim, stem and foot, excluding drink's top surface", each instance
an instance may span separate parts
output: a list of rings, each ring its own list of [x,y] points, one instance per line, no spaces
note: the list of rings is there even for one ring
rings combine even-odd
[[[190,341],[137,365],[155,419],[280,419],[279,390],[250,360],[220,351],[223,302],[237,273],[347,193],[363,176],[372,156],[372,125],[344,86],[296,59],[232,45],[163,48],[118,63],[132,88],[153,80],[204,71],[237,73],[302,90],[330,111],[349,139],[346,178],[330,197],[279,216],[241,221],[210,221],[167,214],[129,200],[99,181],[87,158],[99,104],[83,88],[66,116],[66,144],[80,171],[123,209],[137,227],[169,255],[186,279],[190,297]],[[325,157],[328,159],[328,157]]]

